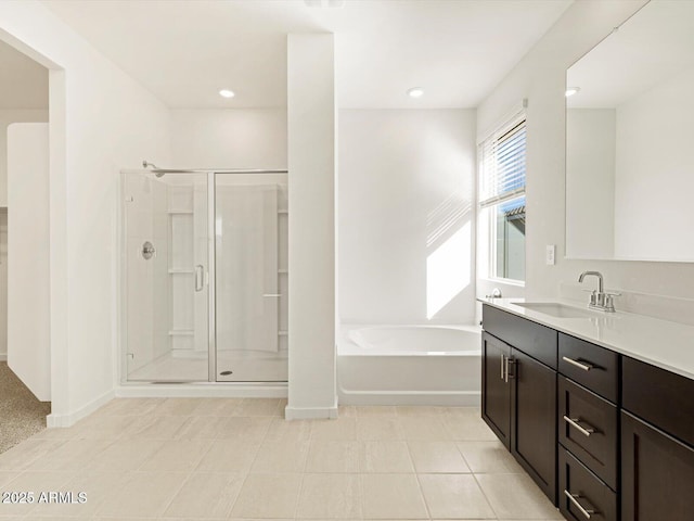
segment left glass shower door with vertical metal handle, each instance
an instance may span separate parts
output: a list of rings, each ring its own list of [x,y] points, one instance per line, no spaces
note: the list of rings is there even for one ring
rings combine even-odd
[[[126,381],[208,381],[206,173],[123,175]]]

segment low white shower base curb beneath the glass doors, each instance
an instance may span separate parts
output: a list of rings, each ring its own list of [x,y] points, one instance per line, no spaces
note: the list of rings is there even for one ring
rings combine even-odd
[[[149,383],[123,384],[116,387],[116,396],[123,398],[286,398],[286,383]]]

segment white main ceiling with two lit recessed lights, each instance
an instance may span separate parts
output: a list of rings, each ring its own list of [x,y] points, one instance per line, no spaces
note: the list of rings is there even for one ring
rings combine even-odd
[[[571,1],[44,4],[171,107],[285,106],[286,35],[331,31],[338,105],[387,109],[476,106]],[[329,3],[342,7],[320,7]],[[406,96],[414,86],[425,90],[417,100]],[[220,98],[221,88],[236,97]]]

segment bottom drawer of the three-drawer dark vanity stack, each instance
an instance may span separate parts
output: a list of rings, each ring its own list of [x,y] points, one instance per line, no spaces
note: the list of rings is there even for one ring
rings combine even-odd
[[[617,495],[562,447],[560,511],[570,521],[617,521]]]

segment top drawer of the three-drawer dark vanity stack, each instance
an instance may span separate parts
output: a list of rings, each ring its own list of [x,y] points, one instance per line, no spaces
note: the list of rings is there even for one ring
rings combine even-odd
[[[616,403],[619,355],[564,333],[560,333],[558,344],[558,371]]]

